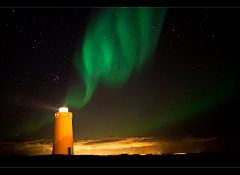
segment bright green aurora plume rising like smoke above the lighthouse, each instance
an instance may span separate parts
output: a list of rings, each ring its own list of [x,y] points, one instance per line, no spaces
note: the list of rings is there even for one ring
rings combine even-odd
[[[85,88],[81,84],[70,87],[66,106],[84,107],[99,81],[117,88],[133,71],[139,73],[154,54],[165,13],[165,8],[100,9],[87,28],[83,47],[76,49],[82,55],[74,56]]]

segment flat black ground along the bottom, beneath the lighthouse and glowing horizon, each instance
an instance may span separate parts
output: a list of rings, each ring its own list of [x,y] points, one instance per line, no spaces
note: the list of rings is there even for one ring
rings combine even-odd
[[[240,153],[0,157],[1,167],[240,167]]]

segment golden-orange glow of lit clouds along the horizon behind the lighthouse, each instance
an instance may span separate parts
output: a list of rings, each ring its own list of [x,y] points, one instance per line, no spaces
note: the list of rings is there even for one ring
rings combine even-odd
[[[60,119],[56,118],[56,120]],[[71,127],[68,127],[68,129],[64,130],[71,130],[70,128]],[[98,140],[76,140],[73,142],[73,150],[74,155],[183,155],[190,152],[204,152],[205,150],[199,150],[199,148],[194,149],[194,145],[196,145],[195,143],[207,143],[209,142],[209,140],[212,139],[186,137],[182,140],[168,140],[166,142],[164,139],[158,137],[119,138],[115,136],[114,138],[111,137]],[[54,141],[56,142],[56,140]],[[38,139],[21,142],[1,142],[0,146],[1,149],[4,150],[4,152],[2,152],[2,155],[50,155],[53,152],[53,142],[52,140],[48,139]]]

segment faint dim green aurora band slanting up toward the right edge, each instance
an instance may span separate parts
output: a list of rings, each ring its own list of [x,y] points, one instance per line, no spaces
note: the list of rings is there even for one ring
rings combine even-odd
[[[211,77],[213,79],[213,77]],[[211,79],[210,78],[210,79]],[[121,125],[121,134],[143,134],[158,129],[161,126],[169,126],[170,123],[179,123],[190,118],[198,117],[200,114],[204,116],[218,106],[224,104],[227,100],[232,98],[239,89],[239,84],[232,86],[226,79],[218,79],[206,85],[207,88],[203,92],[198,92],[198,87],[195,87],[191,94],[179,93],[175,100],[177,105],[167,103],[159,105],[151,117],[141,116],[146,115],[142,109],[135,109],[138,111],[139,118],[148,118],[148,120],[139,121],[136,126],[128,124]],[[124,127],[123,127],[124,126]]]

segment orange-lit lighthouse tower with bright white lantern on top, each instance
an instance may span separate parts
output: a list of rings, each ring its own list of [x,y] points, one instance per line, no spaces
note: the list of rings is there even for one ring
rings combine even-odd
[[[73,155],[72,113],[64,104],[55,113],[52,154]]]

